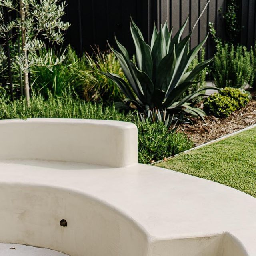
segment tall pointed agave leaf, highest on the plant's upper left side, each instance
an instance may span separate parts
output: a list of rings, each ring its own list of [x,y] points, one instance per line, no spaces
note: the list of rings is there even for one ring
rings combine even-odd
[[[130,30],[136,48],[138,67],[141,71],[145,72],[150,78],[152,78],[152,57],[150,46],[146,44],[143,39],[142,33],[132,19]]]

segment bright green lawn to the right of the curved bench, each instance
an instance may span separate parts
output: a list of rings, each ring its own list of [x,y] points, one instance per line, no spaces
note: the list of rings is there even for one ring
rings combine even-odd
[[[157,166],[216,181],[256,197],[256,128]]]

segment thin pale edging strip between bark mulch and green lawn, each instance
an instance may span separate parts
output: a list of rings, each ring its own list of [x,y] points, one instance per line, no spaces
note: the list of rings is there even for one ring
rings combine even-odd
[[[209,141],[209,142],[206,142],[206,143],[201,144],[201,145],[199,145],[199,146],[196,146],[196,147],[194,147],[194,148],[190,148],[190,149],[185,150],[185,151],[183,151],[183,152],[180,152],[180,153],[178,153],[178,154],[176,154],[176,155],[174,155],[174,156],[169,156],[168,158],[165,158],[165,160],[162,159],[162,160],[159,160],[159,161],[157,161],[157,162],[154,162],[154,163],[152,163],[152,164],[150,164],[150,165],[155,165],[155,164],[160,164],[160,163],[163,163],[163,162],[167,162],[168,160],[170,160],[170,159],[172,159],[172,158],[174,158],[174,157],[176,157],[176,156],[179,156],[179,155],[181,155],[181,154],[186,154],[186,153],[188,153],[188,152],[190,152],[190,151],[193,151],[193,150],[196,150],[196,149],[199,149],[199,148],[203,148],[204,146],[208,146],[208,145],[210,145],[210,144],[213,144],[213,143],[215,143],[215,142],[224,140],[224,139],[226,139],[226,138],[229,138],[229,137],[232,137],[232,136],[234,136],[234,135],[236,135],[236,134],[239,134],[240,132],[245,132],[245,131],[250,130],[250,129],[253,129],[253,128],[256,128],[256,124],[253,124],[253,125],[251,125],[251,126],[248,126],[248,127],[244,128],[244,129],[242,129],[242,130],[239,130],[239,131],[236,131],[236,132],[232,132],[232,133],[230,133],[230,134],[226,134],[226,135],[224,135],[224,136],[222,136],[222,137],[220,137],[220,138],[218,138],[218,139],[211,140],[211,141]]]

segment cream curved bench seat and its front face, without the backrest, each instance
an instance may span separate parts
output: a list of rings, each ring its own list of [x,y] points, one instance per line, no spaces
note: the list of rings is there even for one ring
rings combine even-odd
[[[256,255],[256,199],[238,190],[136,160],[27,158],[0,161],[0,242],[71,256]]]

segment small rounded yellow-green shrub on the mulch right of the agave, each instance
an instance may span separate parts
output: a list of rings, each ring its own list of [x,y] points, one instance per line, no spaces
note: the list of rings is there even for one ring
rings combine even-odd
[[[236,88],[226,87],[204,100],[204,111],[219,118],[230,116],[235,110],[246,106],[248,94]]]

